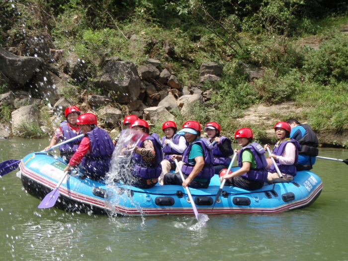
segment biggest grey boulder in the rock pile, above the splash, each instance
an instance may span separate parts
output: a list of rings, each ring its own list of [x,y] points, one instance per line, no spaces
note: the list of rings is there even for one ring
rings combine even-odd
[[[102,76],[93,81],[96,87],[113,91],[117,102],[131,102],[140,94],[141,81],[132,62],[109,61],[102,70]]]

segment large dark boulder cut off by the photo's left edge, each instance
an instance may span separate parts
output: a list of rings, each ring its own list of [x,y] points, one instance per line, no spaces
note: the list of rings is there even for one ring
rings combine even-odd
[[[17,56],[0,47],[0,72],[16,84],[27,83],[42,63],[41,58]]]

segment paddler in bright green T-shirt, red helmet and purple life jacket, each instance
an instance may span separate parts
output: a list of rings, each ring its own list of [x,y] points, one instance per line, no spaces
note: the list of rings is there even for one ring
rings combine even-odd
[[[220,172],[220,181],[226,179],[226,185],[244,188],[247,190],[259,189],[267,180],[267,161],[264,157],[262,146],[253,142],[254,134],[249,128],[242,128],[236,131],[235,139],[241,150],[235,149],[238,153],[238,167],[235,172],[226,174],[227,169]]]

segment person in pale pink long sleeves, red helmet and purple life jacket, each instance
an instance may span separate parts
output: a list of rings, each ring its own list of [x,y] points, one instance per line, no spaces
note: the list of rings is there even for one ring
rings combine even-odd
[[[296,164],[298,160],[298,151],[300,150],[300,144],[290,139],[291,127],[290,124],[284,121],[280,121],[274,125],[275,136],[278,142],[274,145],[273,152],[268,156],[268,177],[267,181],[269,184],[275,182],[290,182],[296,175]],[[269,144],[264,145],[266,150]],[[283,174],[283,178],[279,178],[274,165],[270,158],[275,160],[279,171]]]

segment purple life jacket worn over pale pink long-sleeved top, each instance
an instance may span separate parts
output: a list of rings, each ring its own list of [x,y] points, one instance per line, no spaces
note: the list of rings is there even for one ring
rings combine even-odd
[[[298,151],[300,150],[300,144],[294,140],[294,139],[289,139],[289,140],[285,140],[283,141],[282,143],[280,143],[279,146],[277,147],[274,147],[274,150],[273,150],[273,154],[274,155],[277,155],[277,156],[282,156],[283,155],[283,151],[285,149],[285,146],[288,142],[292,142],[294,145],[295,145],[295,148],[296,148],[296,154],[295,154],[295,161],[294,161],[294,164],[296,164],[297,160],[298,160]],[[277,143],[278,144],[278,143]],[[275,145],[277,145],[275,144]],[[297,172],[296,172],[296,167],[295,165],[285,165],[285,164],[280,164],[278,160],[275,160],[275,163],[277,164],[278,168],[279,168],[279,171],[283,174],[289,174],[289,175],[292,175],[292,176],[296,176]],[[277,171],[275,170],[274,168],[274,165],[272,164],[270,167],[269,167],[269,170],[268,172],[270,173],[276,173]]]

